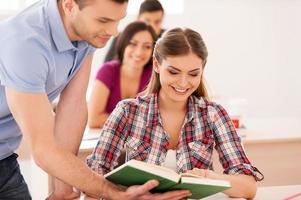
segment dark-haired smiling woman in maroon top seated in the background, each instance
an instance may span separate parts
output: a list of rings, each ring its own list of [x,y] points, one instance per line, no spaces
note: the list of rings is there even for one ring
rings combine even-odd
[[[155,41],[154,30],[144,22],[133,22],[122,32],[116,44],[118,59],[104,63],[97,72],[88,106],[90,128],[101,128],[120,100],[145,89]]]

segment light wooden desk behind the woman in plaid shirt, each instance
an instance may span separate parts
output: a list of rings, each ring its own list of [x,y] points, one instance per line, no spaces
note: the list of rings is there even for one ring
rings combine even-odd
[[[265,176],[259,186],[301,184],[301,119],[251,119],[246,121],[246,130],[241,134],[246,154],[252,164]],[[79,157],[85,159],[97,144],[99,130],[85,132]],[[222,172],[217,154],[214,168]]]

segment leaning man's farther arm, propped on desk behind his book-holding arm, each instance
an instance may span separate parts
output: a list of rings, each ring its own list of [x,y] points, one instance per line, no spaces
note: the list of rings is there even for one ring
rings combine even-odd
[[[60,95],[55,115],[55,142],[65,150],[77,155],[87,123],[86,91],[89,82],[92,55],[89,55],[80,70]],[[54,179],[53,198],[73,198],[79,194],[73,187]]]

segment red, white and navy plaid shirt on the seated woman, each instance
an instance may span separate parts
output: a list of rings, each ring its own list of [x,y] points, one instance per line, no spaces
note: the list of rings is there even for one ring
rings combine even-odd
[[[163,129],[158,106],[158,94],[121,101],[102,128],[98,144],[87,158],[88,166],[99,174],[106,174],[118,164],[124,148],[128,160],[163,164],[169,136]],[[246,157],[225,109],[191,96],[176,147],[177,172],[213,169],[213,148],[218,152],[224,173],[263,179]]]

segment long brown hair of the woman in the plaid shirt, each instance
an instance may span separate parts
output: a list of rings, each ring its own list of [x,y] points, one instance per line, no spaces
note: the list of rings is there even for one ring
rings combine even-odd
[[[203,69],[207,62],[208,51],[202,36],[189,28],[174,28],[163,34],[156,42],[153,57],[159,63],[167,57],[187,55],[190,52],[196,54],[203,61]],[[143,94],[159,92],[161,88],[159,74],[153,70],[150,82]],[[203,75],[199,87],[193,92],[197,97],[208,99],[208,92],[205,87]]]

